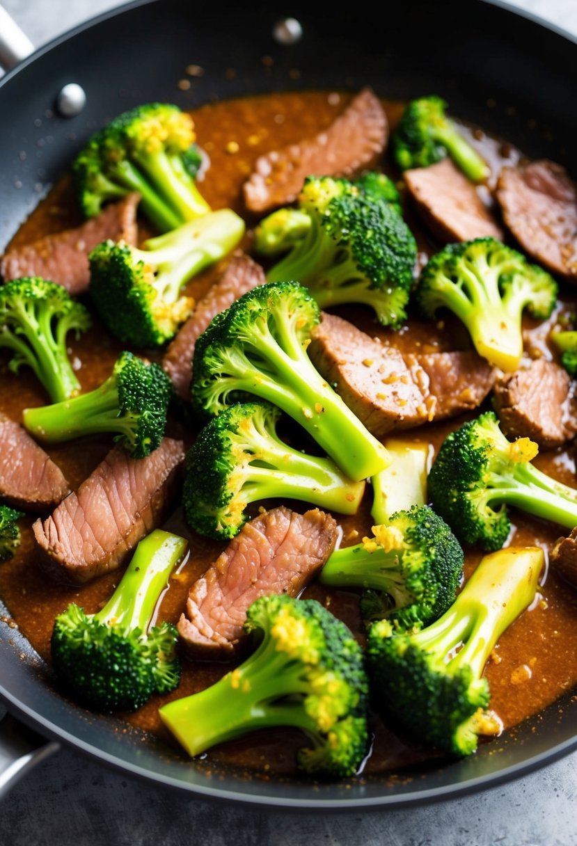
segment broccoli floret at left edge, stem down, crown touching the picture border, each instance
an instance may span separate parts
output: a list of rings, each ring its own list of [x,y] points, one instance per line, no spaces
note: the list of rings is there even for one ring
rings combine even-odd
[[[66,288],[41,277],[14,279],[0,287],[0,347],[13,350],[8,367],[14,373],[28,365],[46,388],[52,402],[80,390],[66,349],[91,325],[84,305]]]

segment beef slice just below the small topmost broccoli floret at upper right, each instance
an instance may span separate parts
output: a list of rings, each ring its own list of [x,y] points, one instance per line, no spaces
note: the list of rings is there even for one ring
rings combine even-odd
[[[440,241],[487,236],[503,240],[503,230],[481,201],[475,185],[450,158],[430,168],[405,170],[403,176],[420,217]]]

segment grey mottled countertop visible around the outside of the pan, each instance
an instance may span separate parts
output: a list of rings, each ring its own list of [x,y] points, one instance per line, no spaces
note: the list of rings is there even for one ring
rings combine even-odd
[[[574,0],[511,4],[577,34]],[[4,0],[3,5],[38,47],[118,3]],[[411,810],[296,815],[171,794],[64,749],[28,772],[3,799],[0,844],[568,846],[577,843],[576,808],[577,753],[464,799]]]

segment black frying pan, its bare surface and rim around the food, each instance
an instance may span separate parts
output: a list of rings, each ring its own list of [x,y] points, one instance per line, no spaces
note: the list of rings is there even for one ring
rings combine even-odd
[[[241,6],[209,3],[199,13],[198,4],[139,0],[73,30],[0,80],[0,253],[86,138],[114,115],[153,100],[190,108],[272,90],[358,91],[366,84],[393,98],[434,92],[453,113],[530,157],[550,157],[577,173],[577,44],[536,19],[481,0],[381,3],[370,16],[325,2]],[[298,27],[277,26],[288,16],[302,37],[294,37]],[[181,91],[191,63],[205,74]],[[59,95],[71,82],[86,102],[65,117]],[[6,615],[0,603],[0,618]],[[113,717],[71,705],[52,689],[48,668],[18,630],[3,622],[0,699],[11,715],[0,722],[0,788],[63,741],[125,773],[192,794],[354,810],[494,786],[577,749],[577,697],[568,693],[539,717],[481,744],[476,755],[421,767],[414,778],[360,778],[314,790],[296,778],[264,780],[184,761],[159,739],[143,743],[140,732]]]

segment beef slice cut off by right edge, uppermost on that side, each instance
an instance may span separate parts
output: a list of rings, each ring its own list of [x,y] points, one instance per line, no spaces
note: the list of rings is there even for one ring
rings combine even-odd
[[[554,273],[577,277],[577,189],[561,165],[542,160],[503,168],[497,200],[529,255]]]

